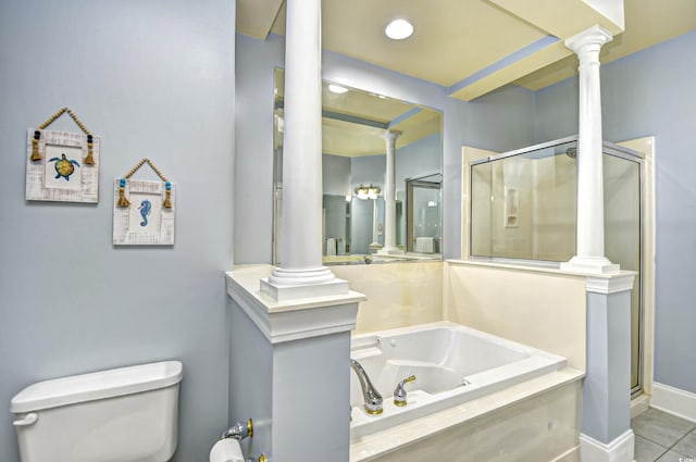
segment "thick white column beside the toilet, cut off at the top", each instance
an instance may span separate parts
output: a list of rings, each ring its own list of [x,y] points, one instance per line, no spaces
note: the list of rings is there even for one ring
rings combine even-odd
[[[348,294],[322,266],[321,0],[286,2],[281,267],[261,290],[276,300]]]

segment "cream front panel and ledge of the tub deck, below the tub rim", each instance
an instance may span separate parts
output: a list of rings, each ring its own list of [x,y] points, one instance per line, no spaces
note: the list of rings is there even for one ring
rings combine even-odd
[[[365,436],[350,462],[577,461],[582,376],[552,372]]]

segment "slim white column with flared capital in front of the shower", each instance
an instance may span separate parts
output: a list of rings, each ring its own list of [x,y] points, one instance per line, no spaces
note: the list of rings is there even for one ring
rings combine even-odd
[[[580,60],[580,117],[577,135],[577,250],[561,269],[602,274],[619,271],[605,257],[605,196],[601,153],[601,93],[599,50],[612,35],[593,26],[568,40]]]

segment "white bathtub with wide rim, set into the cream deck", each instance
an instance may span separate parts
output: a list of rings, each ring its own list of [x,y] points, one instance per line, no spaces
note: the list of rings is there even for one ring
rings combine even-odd
[[[351,442],[566,367],[564,358],[449,322],[355,336],[351,358],[384,398],[384,412],[368,414],[351,372]],[[397,407],[394,389],[411,374],[408,404]]]

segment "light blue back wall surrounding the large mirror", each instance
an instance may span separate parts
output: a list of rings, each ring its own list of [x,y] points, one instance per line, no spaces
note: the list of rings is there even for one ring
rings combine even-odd
[[[283,66],[284,41],[237,36],[235,263],[270,263],[273,185],[273,68]],[[534,93],[508,87],[468,103],[418,78],[341,54],[322,54],[322,77],[444,112],[444,247],[461,254],[461,147],[506,151],[534,139]],[[355,183],[355,180],[353,180]],[[250,200],[252,199],[252,200]]]

